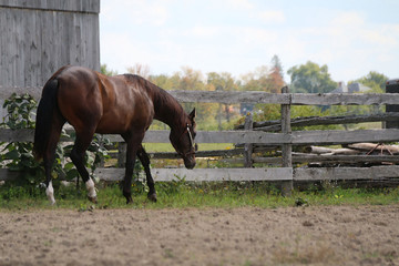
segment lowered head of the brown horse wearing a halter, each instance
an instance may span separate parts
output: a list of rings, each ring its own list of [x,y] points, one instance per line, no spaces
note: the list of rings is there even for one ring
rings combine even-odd
[[[186,168],[194,168],[195,166],[195,152],[197,145],[194,142],[195,132],[195,109],[188,114],[181,127],[172,129],[170,140],[173,147],[184,160]]]

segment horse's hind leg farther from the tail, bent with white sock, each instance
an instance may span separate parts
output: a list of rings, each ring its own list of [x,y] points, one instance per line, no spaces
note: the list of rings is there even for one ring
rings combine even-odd
[[[71,152],[71,160],[73,164],[76,166],[80,176],[82,176],[83,182],[85,183],[85,186],[88,188],[89,200],[93,203],[96,203],[96,192],[94,187],[94,182],[92,178],[90,178],[89,172],[84,166],[85,151],[88,150],[93,139],[93,135],[94,135],[94,130],[76,132],[76,140]]]

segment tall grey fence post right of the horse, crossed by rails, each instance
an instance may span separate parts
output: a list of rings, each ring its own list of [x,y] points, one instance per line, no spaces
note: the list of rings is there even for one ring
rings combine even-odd
[[[289,93],[288,86],[282,89],[282,93]],[[282,104],[282,133],[290,134],[290,104]],[[293,167],[293,146],[291,144],[282,145],[283,167]],[[290,196],[294,190],[293,181],[283,181],[282,194],[283,196]]]

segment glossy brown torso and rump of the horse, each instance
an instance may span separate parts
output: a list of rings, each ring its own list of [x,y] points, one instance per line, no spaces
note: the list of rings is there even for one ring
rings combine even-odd
[[[106,76],[82,66],[64,66],[58,75],[58,103],[76,131],[123,134],[150,126],[154,106],[145,80]]]

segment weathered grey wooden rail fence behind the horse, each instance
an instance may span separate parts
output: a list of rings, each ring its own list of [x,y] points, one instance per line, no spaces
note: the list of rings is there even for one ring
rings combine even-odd
[[[13,91],[27,92],[27,88],[0,88],[0,99],[8,98]],[[39,98],[41,88],[30,88],[29,93]],[[293,181],[304,180],[375,180],[391,178],[399,176],[399,166],[374,166],[360,167],[320,167],[301,168],[293,167],[293,145],[305,144],[345,144],[358,142],[396,142],[399,141],[399,130],[356,130],[356,131],[295,131],[290,130],[289,111],[291,105],[381,105],[396,104],[399,94],[301,94],[282,93],[273,94],[265,92],[205,92],[205,91],[168,91],[181,102],[206,102],[206,103],[274,103],[282,104],[282,133],[269,133],[254,130],[197,132],[197,143],[246,143],[263,144],[265,146],[282,146],[282,167],[265,168],[153,168],[155,181],[171,181],[176,176],[185,177],[186,181],[282,181],[289,191]],[[149,131],[144,142],[168,143],[168,131]],[[122,142],[117,135],[109,136],[112,142]],[[0,131],[1,142],[32,141],[33,131],[20,130]],[[248,146],[239,150],[245,152]],[[206,153],[206,152],[204,152]],[[229,154],[224,151],[221,154]],[[201,154],[198,154],[201,155]],[[249,160],[252,160],[249,157]],[[273,158],[276,160],[276,158]],[[305,158],[306,160],[306,158]],[[310,160],[310,158],[309,158]],[[123,177],[121,168],[98,168],[95,174],[101,180],[117,181]],[[14,177],[7,170],[0,174],[0,180]]]

